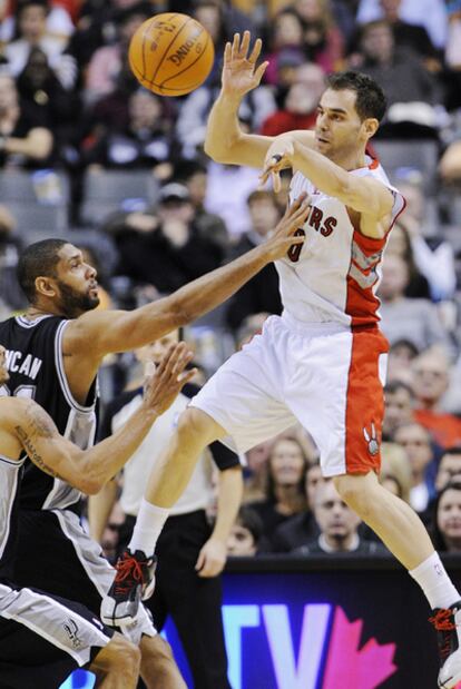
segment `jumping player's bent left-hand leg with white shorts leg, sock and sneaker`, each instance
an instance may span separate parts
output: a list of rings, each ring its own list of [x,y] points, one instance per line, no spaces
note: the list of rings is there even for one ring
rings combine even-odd
[[[278,363],[258,336],[212,376],[183,413],[166,454],[150,475],[131,541],[102,600],[101,618],[107,624],[130,620],[141,597],[151,594],[157,539],[206,445],[229,437],[245,452],[295,422],[274,385],[279,380]]]

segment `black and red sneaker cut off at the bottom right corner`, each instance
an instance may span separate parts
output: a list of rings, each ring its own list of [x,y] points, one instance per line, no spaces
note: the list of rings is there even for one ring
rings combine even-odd
[[[461,600],[450,608],[437,608],[429,621],[435,627],[440,654],[440,689],[461,681]]]

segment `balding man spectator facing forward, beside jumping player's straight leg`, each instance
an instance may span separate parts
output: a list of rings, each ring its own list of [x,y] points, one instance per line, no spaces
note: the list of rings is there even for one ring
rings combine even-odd
[[[359,534],[360,516],[340,498],[331,480],[323,481],[316,492],[314,515],[320,535],[293,551],[297,555],[355,552],[384,554],[385,548]]]

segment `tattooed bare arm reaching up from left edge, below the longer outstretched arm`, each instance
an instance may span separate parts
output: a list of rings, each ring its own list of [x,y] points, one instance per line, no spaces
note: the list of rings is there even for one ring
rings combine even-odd
[[[117,433],[82,451],[59,435],[51,417],[32,400],[0,401],[2,453],[17,457],[24,450],[46,473],[85,493],[97,493],[129,460],[155,420],[173,403],[195,370],[185,372],[193,353],[180,343],[171,346],[146,386],[139,410]]]

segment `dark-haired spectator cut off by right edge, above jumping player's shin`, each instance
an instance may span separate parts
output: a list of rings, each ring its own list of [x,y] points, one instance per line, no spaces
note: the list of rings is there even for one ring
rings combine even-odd
[[[461,552],[461,482],[452,481],[439,493],[434,509],[433,542],[439,551]]]

